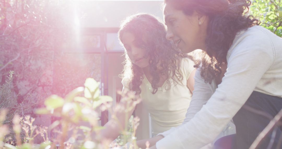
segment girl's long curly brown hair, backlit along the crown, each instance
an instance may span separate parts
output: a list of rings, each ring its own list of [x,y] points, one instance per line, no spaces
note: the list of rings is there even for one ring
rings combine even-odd
[[[157,84],[161,75],[168,77],[166,81],[169,84],[171,84],[170,78],[177,83],[183,80],[183,76],[178,70],[180,58],[189,57],[192,59],[192,57],[182,53],[171,41],[166,40],[164,24],[156,17],[150,14],[136,14],[125,18],[118,31],[121,44],[124,32],[133,33],[137,46],[146,49],[146,56],[149,56],[149,71],[153,76],[151,83],[153,94],[158,90]],[[140,85],[144,79],[143,70],[130,61],[126,50],[124,69],[120,76],[129,82],[131,90],[136,91],[137,94],[141,93]],[[170,89],[170,86],[166,89]]]

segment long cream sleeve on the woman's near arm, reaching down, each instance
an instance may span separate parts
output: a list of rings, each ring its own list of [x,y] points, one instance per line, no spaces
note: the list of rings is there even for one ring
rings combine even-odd
[[[274,61],[271,41],[262,35],[240,39],[230,54],[227,71],[215,93],[189,122],[158,141],[158,149],[201,148],[215,139]]]

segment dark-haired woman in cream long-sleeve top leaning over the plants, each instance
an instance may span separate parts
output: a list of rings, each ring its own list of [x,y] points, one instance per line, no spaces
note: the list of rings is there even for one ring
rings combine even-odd
[[[236,126],[233,147],[250,148],[270,122],[268,117],[282,108],[282,39],[246,15],[250,1],[164,3],[167,39],[183,52],[202,49],[208,57],[196,65],[190,107],[198,112],[188,109],[184,124],[167,132],[151,148],[201,148],[212,142],[232,118]],[[281,127],[274,130],[258,148],[271,147],[271,135],[272,148],[276,148]]]

